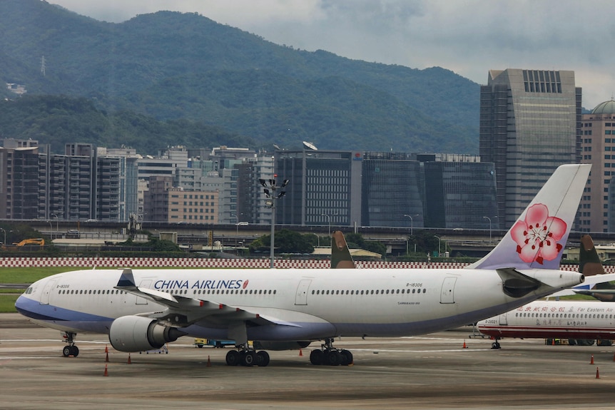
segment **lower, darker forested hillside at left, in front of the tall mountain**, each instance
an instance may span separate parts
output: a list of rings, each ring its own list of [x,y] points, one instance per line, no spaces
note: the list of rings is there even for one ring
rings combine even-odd
[[[39,145],[51,144],[54,153],[63,153],[67,142],[110,148],[125,145],[143,155],[179,144],[189,148],[256,145],[251,138],[194,121],[158,121],[126,111],[106,113],[86,98],[24,96],[0,101],[0,113],[0,138],[32,138]]]

